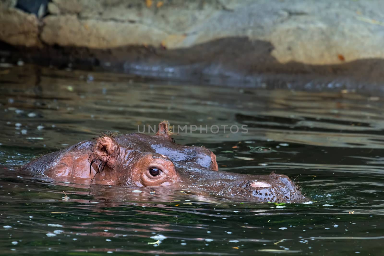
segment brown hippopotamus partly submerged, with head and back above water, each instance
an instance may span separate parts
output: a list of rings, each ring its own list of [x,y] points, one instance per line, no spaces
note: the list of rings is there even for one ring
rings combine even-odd
[[[286,175],[248,175],[218,171],[215,154],[205,147],[179,145],[169,123],[156,135],[101,134],[23,165],[23,170],[76,183],[157,187],[182,185],[237,200],[301,202],[295,183]],[[179,188],[179,187],[178,187]]]

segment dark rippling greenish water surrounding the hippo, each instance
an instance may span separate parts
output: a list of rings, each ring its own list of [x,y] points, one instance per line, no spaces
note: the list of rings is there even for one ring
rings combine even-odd
[[[377,95],[160,84],[34,66],[0,72],[1,255],[384,251],[384,101]],[[286,174],[311,204],[201,200],[166,188],[133,192],[18,171],[100,131],[136,132],[164,119],[246,124],[246,134],[198,130],[175,140],[213,150],[220,170]]]

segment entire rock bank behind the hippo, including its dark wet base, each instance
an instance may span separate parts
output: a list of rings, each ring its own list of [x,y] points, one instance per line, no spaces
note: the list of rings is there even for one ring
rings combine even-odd
[[[267,73],[376,79],[384,68],[382,0],[52,0],[40,27],[14,5],[0,1],[0,41],[30,47],[41,38],[47,51],[35,59],[51,54],[47,62],[249,81]]]

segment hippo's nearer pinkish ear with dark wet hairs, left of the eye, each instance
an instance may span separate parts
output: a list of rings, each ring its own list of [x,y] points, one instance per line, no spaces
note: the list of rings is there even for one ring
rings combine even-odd
[[[119,145],[115,142],[114,137],[107,135],[96,139],[96,146],[94,147],[94,154],[96,157],[103,161],[104,165],[114,167],[119,155]]]

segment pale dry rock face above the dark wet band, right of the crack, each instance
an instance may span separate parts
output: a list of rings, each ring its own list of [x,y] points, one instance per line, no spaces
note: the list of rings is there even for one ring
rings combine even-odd
[[[381,0],[157,3],[54,0],[50,10],[58,16],[45,18],[43,40],[89,48],[144,44],[175,49],[246,37],[271,42],[272,56],[283,63],[335,64],[384,56]]]

